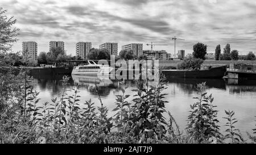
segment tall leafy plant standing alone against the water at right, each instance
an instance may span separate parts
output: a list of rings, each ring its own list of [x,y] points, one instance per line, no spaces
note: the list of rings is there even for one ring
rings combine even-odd
[[[191,105],[191,114],[188,116],[187,130],[189,137],[199,143],[208,141],[210,137],[220,138],[220,129],[217,123],[217,110],[214,110],[212,94],[205,93],[205,82],[197,85],[200,97],[198,102]]]

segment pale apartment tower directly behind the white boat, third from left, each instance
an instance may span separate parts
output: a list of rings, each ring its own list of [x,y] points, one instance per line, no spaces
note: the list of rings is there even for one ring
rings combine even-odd
[[[76,56],[86,59],[90,49],[92,48],[91,42],[79,42],[76,43]]]

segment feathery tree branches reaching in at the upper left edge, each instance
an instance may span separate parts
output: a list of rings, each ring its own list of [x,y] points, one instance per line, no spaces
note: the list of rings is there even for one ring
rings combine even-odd
[[[13,16],[8,19],[6,15],[3,15],[6,11],[7,10],[3,10],[3,8],[0,7],[0,53],[10,51],[13,43],[18,41],[16,36],[18,35],[17,32],[19,29],[13,28],[16,19],[13,19]]]

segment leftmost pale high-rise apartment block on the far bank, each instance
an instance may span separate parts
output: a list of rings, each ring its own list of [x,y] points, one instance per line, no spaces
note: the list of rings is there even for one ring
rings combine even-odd
[[[22,42],[23,56],[26,59],[37,60],[38,58],[38,43],[35,41],[23,41]]]

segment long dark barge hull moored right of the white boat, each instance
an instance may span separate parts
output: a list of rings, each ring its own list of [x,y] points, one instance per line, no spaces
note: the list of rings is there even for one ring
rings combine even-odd
[[[167,78],[222,78],[226,66],[210,68],[208,70],[162,70]]]

